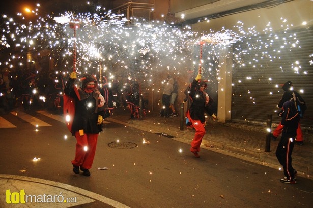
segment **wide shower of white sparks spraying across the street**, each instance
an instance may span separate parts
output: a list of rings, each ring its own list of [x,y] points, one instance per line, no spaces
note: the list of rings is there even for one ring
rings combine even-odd
[[[292,54],[294,50],[301,49],[297,33],[287,33],[292,24],[284,18],[280,20],[282,32],[277,33],[273,31],[270,22],[260,33],[260,28],[255,26],[245,30],[244,23],[238,21],[233,30],[222,28],[221,31],[200,34],[189,26],[180,28],[161,21],[145,22],[133,18],[129,22],[123,15],[113,14],[100,6],[92,13],[66,12],[41,16],[39,5],[34,11],[37,19],[29,22],[21,13],[16,17],[3,15],[0,51],[14,48],[16,53],[10,54],[0,65],[12,68],[15,63],[23,68],[26,62],[32,61],[27,56],[31,52],[37,58],[53,59],[55,71],[68,74],[73,67],[75,46],[78,74],[90,73],[99,77],[101,70],[110,75],[108,78],[112,81],[125,74],[133,78],[140,73],[140,81],[147,87],[143,91],[160,92],[160,89],[153,89],[153,84],[156,79],[162,79],[155,75],[164,71],[181,72],[186,67],[197,69],[200,47],[204,79],[219,82],[219,67],[223,64],[219,62],[220,52],[228,47],[232,50],[227,55],[232,57],[236,68],[255,72],[246,78],[234,80],[235,87],[260,79],[258,73],[267,67],[261,62],[272,64],[281,58],[281,54]],[[308,56],[310,60],[307,63],[291,60],[277,68],[282,73],[289,71],[307,75],[308,71],[304,70],[303,65],[313,65],[313,54]],[[296,56],[291,57],[296,59]],[[273,86],[277,84],[271,75],[266,76]],[[128,80],[125,86],[126,83]],[[279,92],[278,89],[276,92]],[[249,90],[248,93],[253,94],[254,91]],[[268,93],[272,95],[275,92]],[[252,97],[249,100],[251,103],[258,104],[259,100],[255,96],[247,96]],[[67,118],[66,121],[69,120]]]

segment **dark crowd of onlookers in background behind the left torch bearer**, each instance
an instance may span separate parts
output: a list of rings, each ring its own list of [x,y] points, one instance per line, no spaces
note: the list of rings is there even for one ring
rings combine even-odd
[[[63,112],[63,89],[69,73],[60,71],[13,71],[4,67],[0,73],[0,111],[5,113],[16,107],[24,110],[45,108]],[[99,91],[107,99],[110,109],[139,106],[140,84],[136,79],[117,77],[99,80]]]

